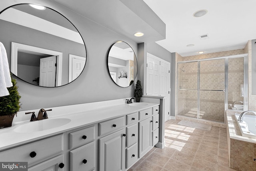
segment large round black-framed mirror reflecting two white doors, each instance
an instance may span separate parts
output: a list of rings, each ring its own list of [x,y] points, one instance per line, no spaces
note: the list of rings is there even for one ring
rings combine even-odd
[[[34,7],[18,4],[0,13],[0,42],[6,48],[10,70],[30,84],[66,85],[84,69],[84,41],[62,14]]]

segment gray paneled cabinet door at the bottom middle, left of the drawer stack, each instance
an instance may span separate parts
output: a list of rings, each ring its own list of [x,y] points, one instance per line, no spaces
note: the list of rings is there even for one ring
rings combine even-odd
[[[125,170],[125,130],[122,129],[99,139],[99,170]]]

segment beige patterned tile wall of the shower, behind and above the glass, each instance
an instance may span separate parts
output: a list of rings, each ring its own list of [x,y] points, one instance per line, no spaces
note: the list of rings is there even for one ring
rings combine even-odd
[[[176,62],[217,58],[237,54],[244,54],[244,49],[187,57],[182,57],[176,53]],[[243,68],[243,65],[239,66],[239,63],[234,63],[236,64],[231,64],[230,70],[232,70],[236,79],[231,79],[230,84],[239,84],[240,87],[240,82],[237,82],[237,80],[243,80],[243,77],[240,78],[240,75],[237,73],[241,71],[240,68]],[[243,64],[243,62],[241,64]],[[180,69],[182,67],[185,72],[182,72]],[[234,68],[234,70],[232,68]],[[200,86],[200,89],[224,89],[224,61],[211,60],[210,62],[201,62],[200,70],[200,85],[202,85]],[[197,117],[197,62],[179,64],[177,71],[180,80],[178,80],[176,86],[178,86],[178,89],[180,90],[177,91],[176,89],[176,94],[178,95],[176,101],[176,104],[178,103],[178,105],[176,105],[178,109],[176,110],[176,115]],[[220,84],[214,84],[219,82]],[[230,90],[232,88],[233,87],[230,87]],[[232,92],[230,101],[233,101],[233,98],[240,96],[240,89],[236,88],[233,90],[235,91]],[[224,91],[200,91],[200,118],[224,122]]]

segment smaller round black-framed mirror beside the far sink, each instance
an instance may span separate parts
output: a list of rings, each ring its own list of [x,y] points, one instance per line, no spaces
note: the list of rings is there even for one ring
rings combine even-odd
[[[108,53],[108,71],[120,87],[128,87],[137,76],[137,58],[126,42],[116,42]]]

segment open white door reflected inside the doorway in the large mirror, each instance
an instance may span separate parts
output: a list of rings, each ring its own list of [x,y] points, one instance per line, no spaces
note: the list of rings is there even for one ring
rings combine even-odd
[[[57,56],[40,58],[40,86],[55,87]]]

